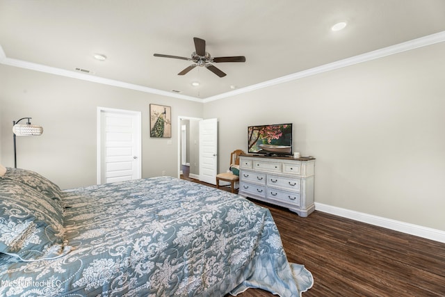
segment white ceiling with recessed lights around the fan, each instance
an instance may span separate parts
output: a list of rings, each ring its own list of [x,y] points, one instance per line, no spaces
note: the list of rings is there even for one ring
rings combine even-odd
[[[340,21],[346,29],[331,31]],[[0,0],[8,64],[82,68],[93,80],[198,99],[442,31],[444,0]],[[204,67],[178,76],[191,62],[153,56],[189,57],[193,37],[207,41],[211,56],[246,62],[215,64],[223,78]]]

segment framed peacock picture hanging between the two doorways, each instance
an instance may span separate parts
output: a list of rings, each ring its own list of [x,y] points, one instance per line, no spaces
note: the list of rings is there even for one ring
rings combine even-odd
[[[150,137],[172,137],[172,108],[170,106],[150,104]]]

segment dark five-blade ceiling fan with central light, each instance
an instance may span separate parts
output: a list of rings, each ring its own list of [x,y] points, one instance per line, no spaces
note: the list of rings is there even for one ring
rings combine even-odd
[[[195,51],[193,51],[191,58],[179,57],[179,56],[170,56],[163,54],[153,54],[155,57],[163,57],[163,58],[175,58],[187,61],[193,61],[195,64],[192,64],[186,69],[182,70],[178,73],[178,75],[184,75],[188,73],[190,70],[195,68],[196,66],[206,67],[208,70],[218,75],[218,77],[225,77],[226,74],[212,65],[211,63],[223,63],[223,62],[245,62],[245,56],[233,56],[233,57],[215,57],[213,58],[206,51],[206,40],[194,37],[193,41],[195,42]]]

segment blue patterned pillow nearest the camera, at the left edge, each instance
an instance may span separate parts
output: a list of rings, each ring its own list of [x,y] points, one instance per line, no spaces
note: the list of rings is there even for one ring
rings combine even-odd
[[[70,252],[58,201],[13,179],[0,179],[0,252],[24,262]]]

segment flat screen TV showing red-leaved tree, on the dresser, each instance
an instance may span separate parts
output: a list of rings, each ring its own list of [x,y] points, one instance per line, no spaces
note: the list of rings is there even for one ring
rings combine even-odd
[[[248,152],[252,154],[291,155],[292,124],[248,127]]]

